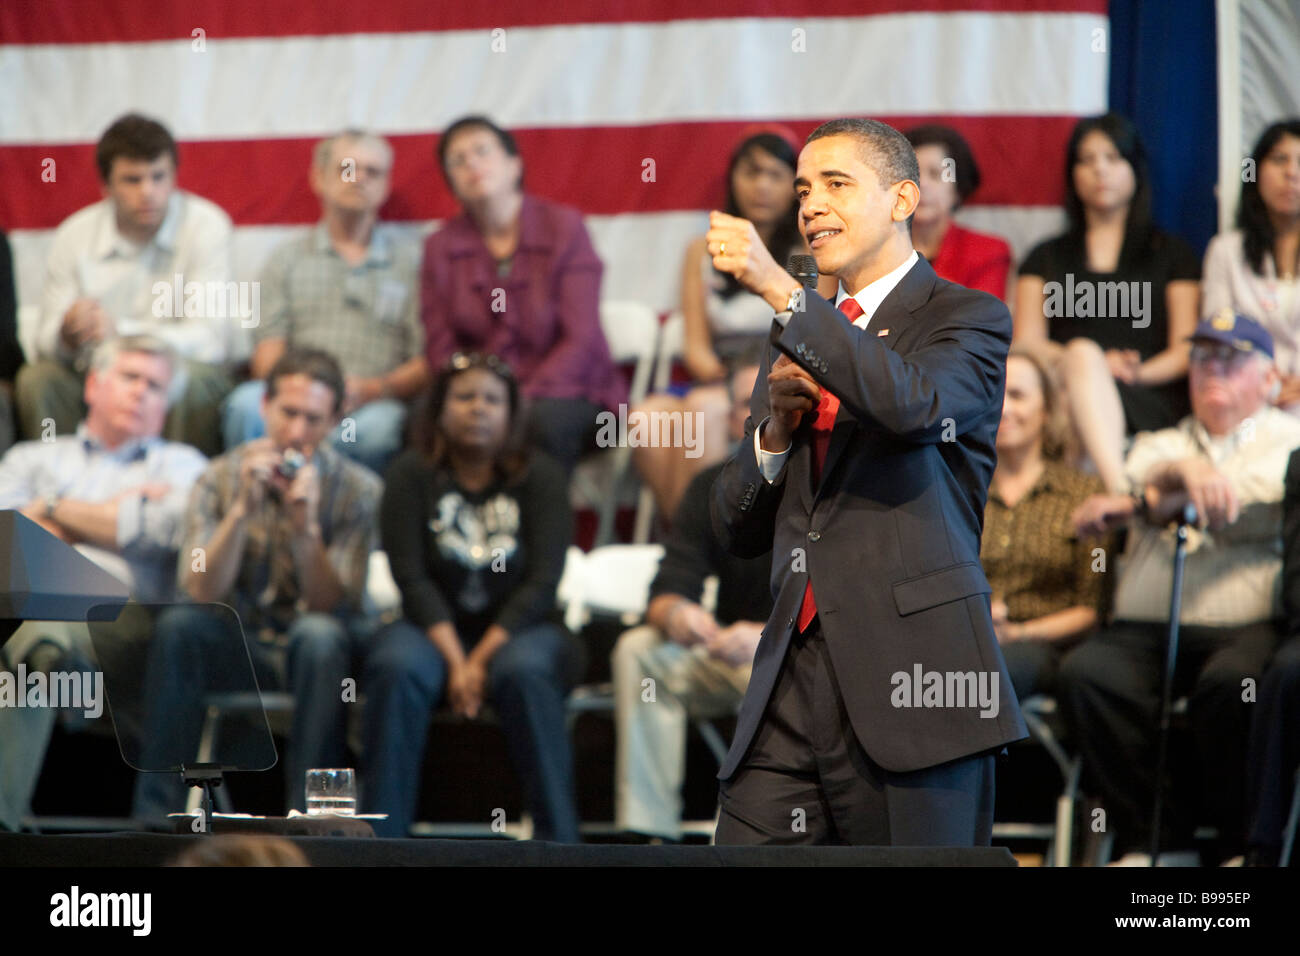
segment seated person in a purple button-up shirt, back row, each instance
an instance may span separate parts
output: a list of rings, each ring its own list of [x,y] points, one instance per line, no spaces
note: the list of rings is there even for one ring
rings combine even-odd
[[[601,330],[601,260],[577,209],[524,193],[515,138],[468,116],[438,140],[462,213],[430,235],[421,267],[429,368],[497,355],[529,399],[530,441],[567,472],[594,447],[597,415],[627,402]]]

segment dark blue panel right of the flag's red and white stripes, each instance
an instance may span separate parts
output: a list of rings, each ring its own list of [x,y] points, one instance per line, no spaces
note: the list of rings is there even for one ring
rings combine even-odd
[[[1150,157],[1152,213],[1197,254],[1218,228],[1214,0],[1110,0],[1110,108]]]

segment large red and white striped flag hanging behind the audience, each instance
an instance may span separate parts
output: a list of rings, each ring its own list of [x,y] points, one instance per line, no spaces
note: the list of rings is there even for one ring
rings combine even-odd
[[[668,310],[746,126],[871,116],[962,130],[984,185],[959,219],[1023,254],[1061,224],[1071,125],[1105,109],[1108,31],[1105,0],[6,3],[0,228],[30,311],[52,228],[100,195],[95,140],[136,111],[256,278],[318,215],[318,138],[387,135],[384,216],[428,229],[455,208],[437,131],[481,112],[517,133],[530,191],[584,211],[603,294]]]

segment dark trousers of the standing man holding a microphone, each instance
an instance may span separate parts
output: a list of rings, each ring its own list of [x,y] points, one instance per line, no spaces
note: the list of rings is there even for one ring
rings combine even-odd
[[[794,635],[745,761],[723,782],[718,844],[987,847],[993,756],[911,773],[858,744],[816,619]]]

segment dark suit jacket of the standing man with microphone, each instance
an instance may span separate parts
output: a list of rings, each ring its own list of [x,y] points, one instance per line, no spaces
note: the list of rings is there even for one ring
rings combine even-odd
[[[772,549],[776,596],[719,778],[736,773],[758,728],[807,575],[849,719],[878,765],[920,770],[1024,737],[979,562],[1011,338],[1006,306],[939,278],[922,258],[868,329],[815,294],[779,329],[776,347],[841,406],[820,485],[812,488],[810,415],[768,484],[753,434],[768,414],[767,369],[777,355],[770,347],[746,440],[714,485],[714,529],[734,554]],[[910,685],[916,665],[984,672],[987,682],[996,674],[997,714],[894,706],[893,675]]]

